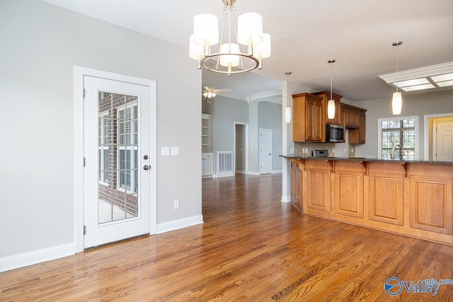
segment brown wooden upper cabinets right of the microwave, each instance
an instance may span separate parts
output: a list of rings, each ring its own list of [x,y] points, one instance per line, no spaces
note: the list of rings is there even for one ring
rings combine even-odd
[[[341,104],[341,124],[349,129],[349,144],[365,144],[366,112],[366,109]]]

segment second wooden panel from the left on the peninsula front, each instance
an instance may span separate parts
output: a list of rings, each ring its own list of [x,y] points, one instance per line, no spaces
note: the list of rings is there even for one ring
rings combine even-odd
[[[363,218],[363,173],[336,171],[335,212]]]

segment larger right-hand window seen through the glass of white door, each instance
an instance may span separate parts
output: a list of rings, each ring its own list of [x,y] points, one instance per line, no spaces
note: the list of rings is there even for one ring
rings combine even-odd
[[[138,108],[137,103],[117,110],[117,188],[138,191]]]

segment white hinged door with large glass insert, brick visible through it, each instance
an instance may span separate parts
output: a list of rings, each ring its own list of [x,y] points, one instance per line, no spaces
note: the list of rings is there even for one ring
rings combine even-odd
[[[150,89],[84,76],[84,248],[149,233]]]

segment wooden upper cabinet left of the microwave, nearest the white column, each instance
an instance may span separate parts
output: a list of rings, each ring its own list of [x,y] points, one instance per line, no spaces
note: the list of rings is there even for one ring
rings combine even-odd
[[[326,141],[323,98],[311,93],[292,95],[292,140]]]

